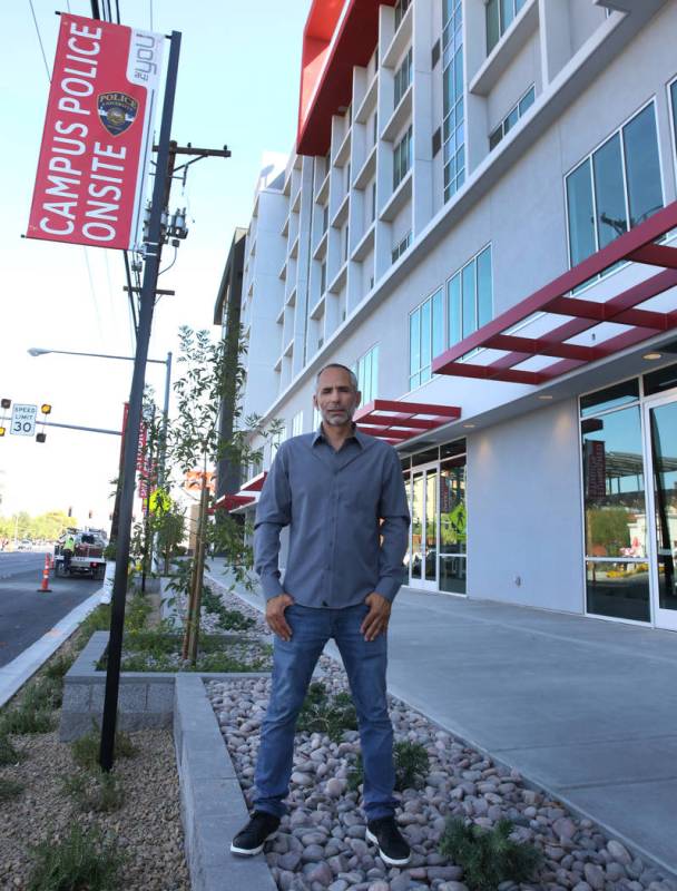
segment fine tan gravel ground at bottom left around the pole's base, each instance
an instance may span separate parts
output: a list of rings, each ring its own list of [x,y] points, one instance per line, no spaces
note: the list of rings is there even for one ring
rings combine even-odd
[[[118,888],[125,891],[189,891],[179,813],[178,774],[169,731],[130,734],[138,754],[119,758],[115,772],[125,787],[122,807],[110,814],[81,813],[61,792],[60,780],[76,772],[70,746],[58,732],[13,736],[24,757],[0,767],[0,776],[24,785],[22,794],[0,803],[0,889],[21,891],[31,870],[29,848],[63,835],[79,823],[100,826],[125,854]]]

